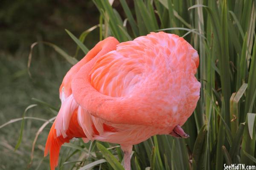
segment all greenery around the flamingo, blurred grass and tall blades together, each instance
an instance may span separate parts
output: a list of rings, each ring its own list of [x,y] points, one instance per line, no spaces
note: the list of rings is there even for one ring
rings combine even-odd
[[[132,169],[219,170],[224,163],[256,164],[256,0],[3,2],[1,169],[49,169],[43,150],[60,106],[58,85],[97,41],[112,35],[123,42],[159,30],[184,37],[198,50],[201,98],[183,126],[190,137],[154,136],[134,146]],[[42,40],[29,55],[28,45]],[[28,56],[33,56],[31,77]],[[8,122],[22,116],[22,123]],[[122,169],[122,157],[116,144],[73,139],[62,147],[58,169]]]

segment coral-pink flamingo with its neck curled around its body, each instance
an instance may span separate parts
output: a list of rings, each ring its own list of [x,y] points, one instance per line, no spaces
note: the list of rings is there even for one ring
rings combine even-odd
[[[120,144],[125,170],[131,170],[134,144],[157,134],[189,137],[181,126],[200,96],[198,65],[197,51],[175,34],[97,43],[59,88],[61,108],[44,151],[50,152],[51,170],[61,145],[74,137]]]

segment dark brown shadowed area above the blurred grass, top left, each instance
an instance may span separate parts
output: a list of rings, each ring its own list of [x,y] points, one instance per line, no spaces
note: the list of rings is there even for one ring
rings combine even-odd
[[[98,9],[90,0],[1,0],[0,3],[0,49],[11,54],[28,50],[37,40],[70,48],[73,42],[65,28],[79,35],[99,23]],[[98,34],[93,33],[88,42],[96,41]],[[87,43],[88,47],[90,44]]]

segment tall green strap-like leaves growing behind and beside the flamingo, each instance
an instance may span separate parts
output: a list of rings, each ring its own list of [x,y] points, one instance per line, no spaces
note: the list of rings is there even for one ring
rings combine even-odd
[[[195,112],[183,126],[190,137],[153,136],[135,145],[132,169],[219,170],[223,169],[224,163],[256,164],[256,1],[136,0],[133,8],[125,0],[116,1],[122,6],[122,14],[108,1],[93,0],[101,14],[99,40],[114,36],[123,42],[163,30],[184,37],[200,56],[197,78],[201,82],[201,98]],[[81,34],[77,38],[66,31],[78,45],[77,49],[81,48],[85,54],[87,47],[83,42],[86,35]],[[48,42],[47,45],[71,64],[76,62],[74,57],[56,45]],[[77,51],[74,56],[78,55]],[[53,67],[58,68],[58,64]],[[58,69],[55,72],[58,73]],[[58,97],[57,92],[54,93]],[[49,91],[47,93],[50,94]],[[43,96],[37,98],[47,101]],[[54,108],[58,110],[59,107],[56,102],[52,102],[51,107],[38,100],[32,104],[52,113],[48,117],[41,116],[44,119],[53,117],[56,113]],[[44,136],[49,130],[49,126],[46,127]],[[27,124],[24,125],[26,128]],[[36,143],[43,145],[45,139]],[[25,153],[23,141],[21,146],[14,154]],[[36,158],[44,160],[43,152],[36,151]],[[65,144],[61,152],[59,169],[122,169],[123,155],[116,144],[84,144],[80,139],[74,139]],[[46,168],[40,167],[38,162],[32,166]]]

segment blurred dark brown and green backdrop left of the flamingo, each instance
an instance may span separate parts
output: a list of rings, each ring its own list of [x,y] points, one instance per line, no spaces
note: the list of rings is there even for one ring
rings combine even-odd
[[[74,56],[76,43],[65,29],[79,37],[98,23],[99,11],[90,0],[0,0],[0,126],[22,117],[27,106],[38,104],[32,98],[56,108],[60,105],[58,88],[71,65],[51,47],[39,44],[33,48],[29,77],[27,62],[32,43],[51,42]],[[96,28],[87,35],[84,44],[90,49],[98,41],[99,28]],[[80,51],[78,59],[83,56]],[[38,104],[25,116],[50,119],[55,115]],[[17,151],[14,148],[21,122],[0,128],[0,170],[34,170],[39,164],[40,169],[49,168],[49,157],[43,159],[48,126],[38,137],[32,166],[28,167],[35,134],[43,123],[26,119]]]

